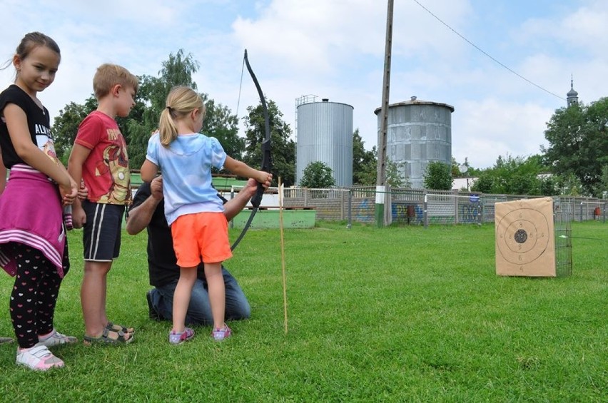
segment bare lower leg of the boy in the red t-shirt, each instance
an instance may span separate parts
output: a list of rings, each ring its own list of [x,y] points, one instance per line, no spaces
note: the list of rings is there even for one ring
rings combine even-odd
[[[84,275],[80,290],[84,333],[99,337],[108,322],[106,318],[106,277],[112,262],[84,263]]]

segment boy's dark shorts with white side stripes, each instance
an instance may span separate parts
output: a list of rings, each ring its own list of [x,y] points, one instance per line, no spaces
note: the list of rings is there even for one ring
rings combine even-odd
[[[124,205],[83,201],[86,213],[82,243],[84,260],[111,262],[121,250]]]

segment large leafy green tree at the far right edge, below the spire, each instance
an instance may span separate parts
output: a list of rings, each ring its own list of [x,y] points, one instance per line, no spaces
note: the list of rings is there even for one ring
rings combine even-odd
[[[602,168],[608,165],[608,98],[585,106],[574,104],[555,111],[547,123],[542,147],[544,160],[552,173],[562,178],[574,174],[582,184],[582,192],[601,196],[598,184]]]

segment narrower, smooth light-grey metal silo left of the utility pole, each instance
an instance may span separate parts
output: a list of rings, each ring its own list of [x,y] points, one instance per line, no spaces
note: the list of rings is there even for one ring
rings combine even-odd
[[[295,181],[300,183],[304,169],[315,161],[333,170],[336,186],[353,185],[353,106],[346,103],[296,102]]]

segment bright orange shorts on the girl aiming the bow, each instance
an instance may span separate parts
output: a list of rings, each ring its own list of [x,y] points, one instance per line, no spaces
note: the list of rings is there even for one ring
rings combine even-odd
[[[179,267],[223,262],[232,257],[228,221],[223,213],[181,215],[171,224],[173,249]]]

